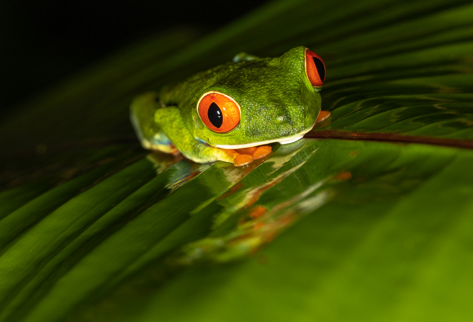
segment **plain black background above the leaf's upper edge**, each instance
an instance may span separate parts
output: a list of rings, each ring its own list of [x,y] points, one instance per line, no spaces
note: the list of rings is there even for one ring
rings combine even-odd
[[[210,32],[266,1],[0,1],[0,112],[146,36]]]

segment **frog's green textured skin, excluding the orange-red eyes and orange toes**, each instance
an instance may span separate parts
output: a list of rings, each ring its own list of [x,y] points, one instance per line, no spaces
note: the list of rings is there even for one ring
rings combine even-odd
[[[210,146],[252,144],[307,131],[320,112],[322,100],[307,78],[305,50],[299,46],[276,58],[251,56],[250,61],[228,62],[175,86],[163,87],[157,95],[138,97],[131,113],[136,118],[135,129],[140,128],[140,139],[151,139],[161,130],[184,156],[211,162],[229,160],[214,156],[218,151],[203,142]],[[216,133],[201,121],[197,102],[209,91],[227,94],[240,105],[240,123],[233,131]],[[154,122],[153,109],[157,110]]]

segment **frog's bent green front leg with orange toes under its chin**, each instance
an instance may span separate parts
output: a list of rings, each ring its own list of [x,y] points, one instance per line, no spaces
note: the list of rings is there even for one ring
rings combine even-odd
[[[235,166],[247,165],[271,152],[271,147],[254,147],[245,149],[215,148],[195,139],[185,126],[180,110],[175,106],[160,108],[154,120],[166,136],[181,151],[184,157],[199,163],[225,161]]]

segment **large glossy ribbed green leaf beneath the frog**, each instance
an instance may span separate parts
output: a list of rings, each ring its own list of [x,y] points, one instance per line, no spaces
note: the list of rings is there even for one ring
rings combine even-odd
[[[472,39],[468,1],[274,1],[18,107],[0,121],[0,321],[469,321]],[[133,96],[301,44],[332,113],[306,139],[240,168],[145,157]]]

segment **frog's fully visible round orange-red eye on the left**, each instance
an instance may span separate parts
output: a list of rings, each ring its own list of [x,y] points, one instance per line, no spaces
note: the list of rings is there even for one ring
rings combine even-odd
[[[217,133],[232,131],[240,122],[240,106],[222,93],[205,93],[197,108],[205,126]]]

